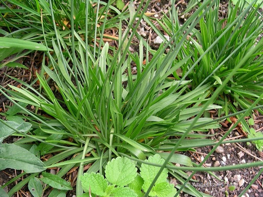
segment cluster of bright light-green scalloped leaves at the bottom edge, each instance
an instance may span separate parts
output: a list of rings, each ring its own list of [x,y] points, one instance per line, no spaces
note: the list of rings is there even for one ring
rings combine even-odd
[[[146,162],[163,164],[158,154],[150,156]],[[122,157],[112,159],[106,165],[105,176],[100,173],[84,173],[80,178],[82,188],[86,194],[100,197],[143,197],[143,191],[147,191],[160,167],[142,164],[140,174],[137,174],[135,162]],[[157,179],[150,197],[174,197],[176,189],[167,181],[168,169],[164,169]],[[111,183],[111,185],[109,185]]]

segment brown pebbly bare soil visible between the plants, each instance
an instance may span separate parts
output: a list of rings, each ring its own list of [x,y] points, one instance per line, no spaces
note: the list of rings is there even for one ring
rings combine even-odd
[[[129,0],[124,0],[126,3]],[[135,1],[135,5],[138,5],[140,2]],[[148,12],[155,13],[154,17],[161,18],[163,13],[167,13],[169,7],[171,6],[171,2],[169,0],[152,0],[150,2]],[[185,20],[190,16],[191,12],[188,14],[182,14],[182,12],[186,9],[188,5],[188,0],[176,0],[176,9],[179,12],[180,22],[183,24]],[[221,14],[222,18],[224,18],[227,14],[227,0],[221,1]],[[156,26],[161,30],[160,27]],[[162,30],[161,30],[162,31]],[[142,35],[146,40],[149,40],[150,46],[153,49],[158,48],[158,44],[154,44],[153,40],[157,36],[156,33],[152,31],[152,29],[146,24],[145,21],[140,22],[140,27],[138,29],[138,33]],[[130,48],[130,51],[138,51],[138,39],[133,40],[133,44]],[[114,41],[111,45],[115,45]],[[40,56],[40,55],[39,55]],[[28,66],[29,70],[23,70],[18,68],[3,68],[0,69],[0,85],[7,87],[7,84],[18,85],[14,81],[9,80],[4,76],[3,73],[11,74],[13,76],[19,77],[23,81],[30,81],[34,78],[34,75],[31,73],[35,73],[35,70],[38,69],[38,62],[41,60],[41,57],[38,55],[34,56],[33,58],[28,58],[24,60],[23,64]],[[22,60],[21,60],[22,61]],[[34,66],[33,66],[34,65]],[[134,69],[136,72],[136,70]],[[7,105],[12,105],[7,99],[5,99],[2,95],[0,95],[0,112],[4,112],[7,110]],[[3,118],[3,117],[2,117]],[[225,123],[222,125],[222,128],[219,130],[213,131],[216,135],[213,139],[220,139],[230,127],[230,124]],[[263,131],[263,116],[258,114],[255,116],[255,130]],[[211,131],[210,131],[211,132]],[[231,132],[228,137],[235,137],[235,138],[244,138],[244,134],[240,132],[240,130],[235,129]],[[5,139],[4,142],[11,143],[14,140],[17,140],[14,137],[9,137]],[[193,162],[199,164],[201,160],[206,156],[207,153],[213,147],[203,147],[197,148],[197,152],[185,152],[181,154],[186,154],[188,157],[192,159]],[[234,165],[234,164],[243,164],[243,163],[251,163],[256,161],[263,161],[263,153],[259,152],[256,147],[252,144],[246,143],[235,143],[235,144],[225,144],[221,145],[220,148],[207,160],[205,166],[218,166],[218,165]],[[262,167],[262,166],[261,166]],[[196,182],[190,182],[192,186],[198,189],[198,191],[209,194],[213,197],[225,197],[225,191],[228,192],[229,197],[236,197],[240,194],[243,189],[250,183],[250,181],[257,175],[261,167],[253,167],[249,169],[241,169],[241,170],[232,170],[232,171],[224,171],[224,172],[215,172],[215,175],[218,176],[222,181],[218,180],[217,178],[209,175],[208,173],[198,172],[194,175],[193,179]],[[73,179],[76,176],[76,170],[73,171],[70,175],[67,176],[67,179]],[[15,177],[16,175],[20,174],[21,171],[13,170],[13,169],[5,169],[0,171],[0,185],[5,184],[11,178]],[[190,174],[191,172],[189,172]],[[25,178],[25,177],[22,177]],[[171,178],[172,179],[172,178]],[[18,181],[21,179],[18,179]],[[171,180],[171,182],[176,183],[176,180]],[[6,192],[8,192],[15,183],[9,185],[6,188]],[[178,183],[181,184],[181,183]],[[229,186],[235,186],[234,191],[229,191]],[[28,188],[24,187],[20,190],[19,193],[15,194],[14,196],[17,197],[31,197],[30,193],[28,192]],[[67,195],[68,197],[73,197],[74,192],[70,192]],[[189,197],[188,194],[181,193],[181,197]],[[260,175],[259,178],[255,181],[252,187],[247,191],[245,197],[263,197],[263,175]]]

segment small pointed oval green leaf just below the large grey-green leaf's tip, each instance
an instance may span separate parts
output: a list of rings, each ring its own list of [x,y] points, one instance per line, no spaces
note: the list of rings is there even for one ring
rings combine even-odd
[[[58,175],[42,172],[41,181],[58,190],[72,190],[71,183],[60,178]]]

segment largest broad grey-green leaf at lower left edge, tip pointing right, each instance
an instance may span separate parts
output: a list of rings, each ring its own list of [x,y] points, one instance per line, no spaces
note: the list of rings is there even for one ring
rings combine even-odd
[[[15,144],[0,145],[0,170],[21,169],[27,173],[45,170],[45,164],[28,150]]]

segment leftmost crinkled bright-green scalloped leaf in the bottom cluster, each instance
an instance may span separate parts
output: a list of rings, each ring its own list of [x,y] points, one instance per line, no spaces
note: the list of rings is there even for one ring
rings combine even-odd
[[[81,185],[84,192],[89,192],[89,190],[98,196],[105,196],[106,189],[108,187],[107,180],[99,173],[91,172],[84,173],[80,177]]]

